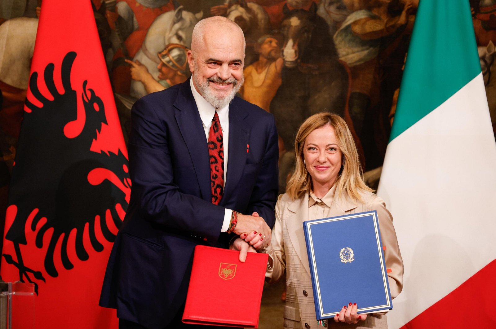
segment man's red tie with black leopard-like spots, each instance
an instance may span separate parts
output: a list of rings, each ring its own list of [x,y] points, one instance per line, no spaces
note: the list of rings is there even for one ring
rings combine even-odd
[[[208,154],[210,155],[212,203],[218,205],[224,192],[224,139],[217,111],[215,111],[208,133]]]

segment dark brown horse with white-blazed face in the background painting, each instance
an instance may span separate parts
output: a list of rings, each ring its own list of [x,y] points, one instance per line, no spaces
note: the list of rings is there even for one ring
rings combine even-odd
[[[295,133],[310,115],[329,111],[344,116],[348,94],[348,73],[339,62],[329,26],[317,15],[313,3],[309,11],[284,6],[282,83],[270,103],[284,149],[292,150]],[[279,192],[294,165],[293,152],[282,155]]]

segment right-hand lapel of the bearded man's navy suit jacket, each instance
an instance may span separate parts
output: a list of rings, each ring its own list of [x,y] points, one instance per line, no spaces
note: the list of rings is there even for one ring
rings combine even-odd
[[[241,178],[247,161],[247,145],[249,132],[244,124],[248,112],[238,108],[235,98],[229,106],[229,158],[224,195],[234,195],[234,190]],[[222,198],[220,204],[225,205],[228,198]]]

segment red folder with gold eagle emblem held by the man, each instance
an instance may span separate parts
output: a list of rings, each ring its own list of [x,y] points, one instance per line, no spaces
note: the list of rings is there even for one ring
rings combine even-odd
[[[258,328],[267,254],[196,246],[183,322]]]

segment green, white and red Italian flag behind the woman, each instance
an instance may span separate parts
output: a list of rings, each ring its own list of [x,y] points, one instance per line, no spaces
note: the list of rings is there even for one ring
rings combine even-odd
[[[377,194],[405,267],[389,328],[496,328],[496,144],[468,0],[420,1]]]

